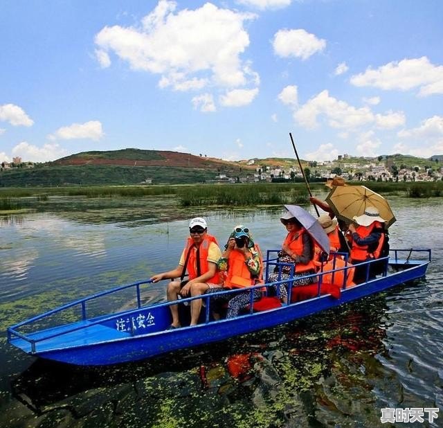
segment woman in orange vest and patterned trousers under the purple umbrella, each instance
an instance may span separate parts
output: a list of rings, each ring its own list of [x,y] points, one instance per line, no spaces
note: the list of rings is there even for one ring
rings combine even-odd
[[[282,244],[281,251],[278,252],[278,263],[284,263],[284,266],[275,266],[269,283],[291,278],[292,287],[309,285],[316,281],[314,274],[316,266],[314,265],[314,240],[302,226],[302,224],[289,211],[280,217],[280,221],[288,231]],[[286,265],[289,264],[289,265]],[[293,276],[291,274],[293,273]],[[274,289],[280,299],[287,302],[287,283],[274,286]]]

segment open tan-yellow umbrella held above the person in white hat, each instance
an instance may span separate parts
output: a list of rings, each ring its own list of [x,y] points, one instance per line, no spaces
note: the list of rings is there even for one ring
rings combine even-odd
[[[354,216],[364,214],[367,206],[379,210],[380,217],[386,221],[386,227],[396,220],[388,201],[366,186],[336,186],[327,195],[326,202],[334,214],[347,224],[354,222]]]

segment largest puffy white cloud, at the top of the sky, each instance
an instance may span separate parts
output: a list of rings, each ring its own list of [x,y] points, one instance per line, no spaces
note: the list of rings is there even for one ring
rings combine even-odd
[[[176,2],[161,0],[139,28],[102,28],[95,37],[98,51],[114,53],[134,70],[160,74],[161,87],[177,90],[195,89],[208,82],[241,87],[257,78],[240,59],[249,45],[243,23],[255,15],[217,8],[212,3],[177,13],[176,8]]]

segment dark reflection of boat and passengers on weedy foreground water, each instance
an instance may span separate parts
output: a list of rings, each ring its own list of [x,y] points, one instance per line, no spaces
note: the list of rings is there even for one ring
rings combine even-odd
[[[137,364],[87,369],[37,360],[12,380],[11,390],[39,416],[29,426],[69,409],[60,424],[83,426],[94,418],[96,427],[150,427],[175,418],[189,427],[246,427],[258,418],[259,426],[302,427],[352,417],[377,427],[368,379],[379,376],[381,364],[368,362],[383,350],[385,310],[382,297],[370,298],[345,311]]]

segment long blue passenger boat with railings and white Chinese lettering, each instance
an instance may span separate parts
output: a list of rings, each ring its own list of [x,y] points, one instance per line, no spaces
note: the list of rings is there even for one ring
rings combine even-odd
[[[280,265],[276,261],[276,253],[275,250],[267,253],[265,278],[268,278],[270,269]],[[323,276],[331,275],[332,271],[327,273],[320,271],[316,274],[318,283],[309,286],[311,294],[305,295],[303,300],[294,297],[292,293],[289,294],[292,298],[289,298],[287,303],[280,303],[278,296],[266,295],[260,301],[254,302],[251,292],[248,310],[232,319],[217,321],[213,319],[209,296],[201,296],[205,307],[201,311],[199,325],[172,330],[168,330],[171,323],[169,306],[177,302],[143,305],[143,289],[149,287],[150,280],[142,280],[81,298],[17,323],[8,328],[8,342],[29,355],[67,364],[99,366],[132,362],[271,328],[397,285],[419,280],[426,275],[426,269],[431,262],[431,250],[392,249],[389,257],[378,261],[384,264],[381,274],[369,279],[372,262],[365,262],[367,280],[359,285],[349,286],[343,281],[343,285],[335,285],[336,288],[333,288],[323,281]],[[280,269],[279,266],[278,268]],[[347,271],[347,269],[350,267],[341,267],[334,271]],[[266,283],[264,287],[268,292],[273,289],[273,285],[279,284],[291,287],[290,281],[288,283],[287,280]],[[326,285],[329,287],[325,287]],[[305,287],[294,287],[294,289],[300,290]],[[123,291],[132,292],[134,307],[100,316],[89,316],[91,307],[97,307],[98,302],[105,298],[112,299]],[[235,292],[236,290],[230,290],[217,294]],[[213,298],[217,294],[210,296]],[[186,310],[186,304],[192,299],[192,297],[181,299],[179,306]],[[71,320],[73,316],[77,317],[75,321],[66,321]],[[55,318],[64,321],[53,326],[51,323]]]

